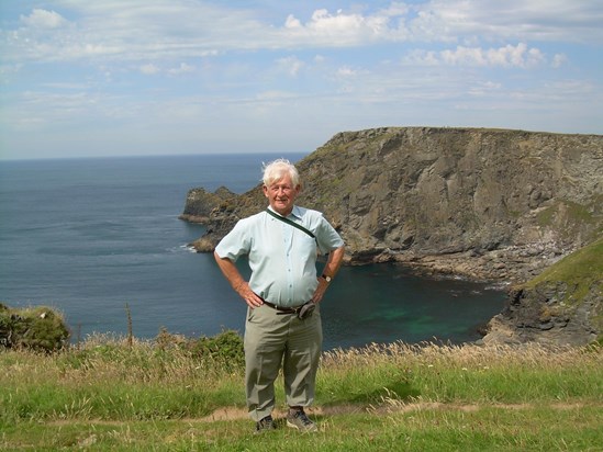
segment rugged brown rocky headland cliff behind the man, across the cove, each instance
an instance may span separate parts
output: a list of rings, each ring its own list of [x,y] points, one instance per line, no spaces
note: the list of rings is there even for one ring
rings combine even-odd
[[[335,135],[298,165],[300,205],[346,241],[348,263],[523,283],[603,233],[603,136],[384,127]],[[190,193],[189,193],[190,195]],[[266,206],[260,187],[203,193],[211,251]]]

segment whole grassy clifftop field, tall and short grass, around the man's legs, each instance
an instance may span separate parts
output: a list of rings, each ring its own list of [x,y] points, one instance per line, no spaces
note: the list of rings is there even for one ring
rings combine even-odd
[[[320,432],[288,429],[279,406],[280,428],[256,436],[239,344],[227,341],[194,348],[166,334],[92,337],[55,354],[2,351],[0,450],[603,450],[600,347],[328,352],[309,410]]]

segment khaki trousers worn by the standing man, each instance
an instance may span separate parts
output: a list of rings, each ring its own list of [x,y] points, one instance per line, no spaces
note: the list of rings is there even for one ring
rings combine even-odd
[[[286,402],[308,406],[314,400],[323,330],[320,307],[300,320],[263,305],[247,309],[245,324],[245,388],[252,419],[275,408],[275,381],[282,364]]]

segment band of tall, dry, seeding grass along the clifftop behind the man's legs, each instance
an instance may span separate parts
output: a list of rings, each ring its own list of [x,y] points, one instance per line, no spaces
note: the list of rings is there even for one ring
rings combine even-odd
[[[165,339],[165,338],[164,338]],[[243,407],[243,368],[182,347],[186,339],[143,341],[94,336],[78,348],[0,354],[0,402],[18,419],[197,417]],[[601,400],[599,347],[442,346],[397,342],[323,354],[316,404],[375,405],[384,399],[460,404]],[[278,383],[278,391],[282,385]],[[34,397],[33,395],[36,394]],[[282,400],[282,396],[280,397]],[[88,402],[87,402],[88,400]],[[111,400],[104,408],[101,403]],[[33,406],[35,404],[38,406]],[[9,405],[22,404],[10,409]],[[127,405],[127,406],[126,406]],[[25,407],[25,408],[24,408]],[[83,413],[85,410],[82,410]]]

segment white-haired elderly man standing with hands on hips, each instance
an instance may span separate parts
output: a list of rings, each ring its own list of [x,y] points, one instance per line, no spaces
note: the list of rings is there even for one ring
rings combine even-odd
[[[287,425],[316,431],[304,407],[314,399],[322,351],[319,303],[344,257],[344,241],[320,212],[294,204],[301,191],[298,170],[278,159],[264,168],[269,207],[241,219],[215,248],[215,260],[247,304],[245,385],[256,432],[275,429],[275,380],[282,365],[289,411]],[[328,253],[316,275],[319,253]],[[248,257],[245,281],[236,260]]]

